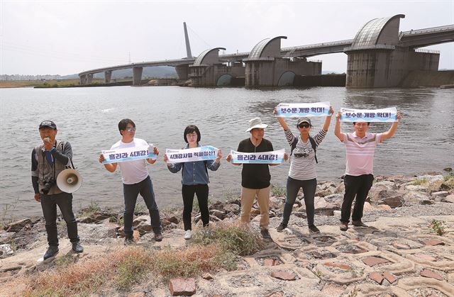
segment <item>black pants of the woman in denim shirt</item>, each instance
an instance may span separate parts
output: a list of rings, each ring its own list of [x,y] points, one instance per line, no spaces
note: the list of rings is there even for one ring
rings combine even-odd
[[[210,223],[210,213],[208,211],[208,185],[207,184],[195,184],[192,186],[182,186],[183,196],[183,223],[184,230],[191,230],[191,213],[192,213],[192,202],[194,201],[194,194],[197,195],[197,201],[199,201],[199,208],[201,213],[201,222],[204,226]]]

